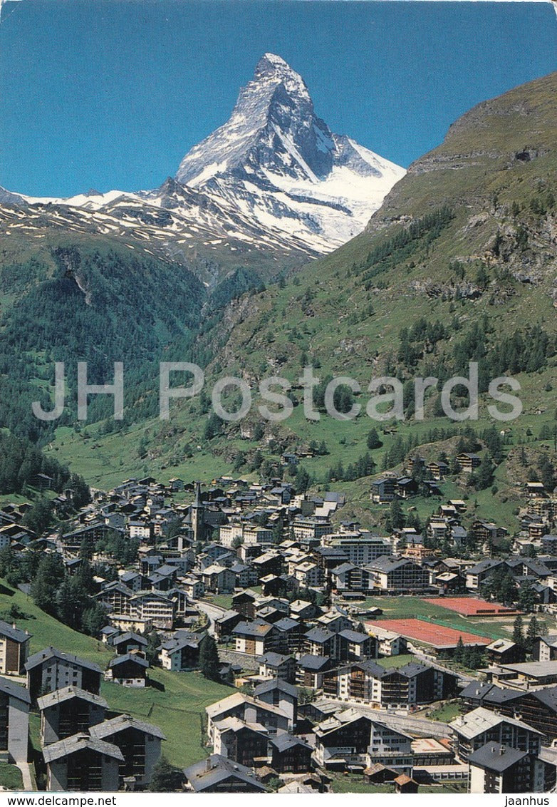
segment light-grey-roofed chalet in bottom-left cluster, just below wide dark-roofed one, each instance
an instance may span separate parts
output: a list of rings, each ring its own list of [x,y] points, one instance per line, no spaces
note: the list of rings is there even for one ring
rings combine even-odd
[[[100,695],[77,687],[64,687],[37,698],[40,712],[40,739],[43,746],[51,745],[89,727],[102,723],[108,704]]]

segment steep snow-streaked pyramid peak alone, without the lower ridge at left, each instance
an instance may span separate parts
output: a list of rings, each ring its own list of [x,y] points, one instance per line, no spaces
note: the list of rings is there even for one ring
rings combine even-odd
[[[230,119],[185,155],[176,178],[322,253],[363,230],[404,174],[330,132],[303,78],[265,53]]]

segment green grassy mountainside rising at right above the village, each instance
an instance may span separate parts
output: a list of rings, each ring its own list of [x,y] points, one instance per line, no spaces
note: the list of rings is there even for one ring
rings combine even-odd
[[[415,375],[443,381],[467,370],[469,360],[480,362],[483,391],[489,377],[512,374],[522,385],[524,413],[505,436],[509,456],[495,472],[503,492],[492,505],[510,524],[518,447],[532,444],[534,466],[544,452],[552,453],[547,435],[557,383],[556,121],[555,74],[464,115],[439,148],[411,166],[364,233],[266,291],[235,299],[202,329],[197,351],[215,353],[207,391],[225,373],[241,374],[253,389],[272,374],[295,384],[306,364],[322,379],[351,375],[363,389],[373,376],[392,374],[407,392]],[[293,395],[301,398],[299,391]],[[485,403],[476,424],[480,436],[490,425]],[[406,399],[405,413],[405,421],[380,435],[383,445],[370,449],[376,470],[397,466],[399,438],[403,453],[433,441],[435,454],[439,437],[454,432],[439,412],[436,393],[426,398],[424,422],[414,420]],[[95,479],[112,480],[143,463],[162,475],[188,478],[232,467],[256,473],[259,448],[270,473],[281,450],[324,443],[304,465],[319,483],[330,484],[331,466],[357,466],[368,431],[377,425],[364,415],[349,423],[325,415],[311,422],[301,406],[281,424],[264,424],[262,432],[255,405],[242,424],[206,431],[208,419],[206,398],[176,402],[167,424],[137,423],[117,440],[103,438],[94,427],[85,439],[66,429],[56,448],[62,458],[77,460],[77,470],[89,468]],[[360,512],[368,509],[364,465],[355,468],[358,481],[342,485],[351,489]],[[479,505],[487,494],[478,494]]]

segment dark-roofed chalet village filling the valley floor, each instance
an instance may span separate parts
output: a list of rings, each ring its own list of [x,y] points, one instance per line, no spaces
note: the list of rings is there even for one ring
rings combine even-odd
[[[480,464],[453,461],[464,474]],[[553,790],[557,495],[526,483],[511,539],[443,500],[444,459],[405,470],[375,479],[369,499],[389,508],[425,485],[422,532],[376,534],[343,520],[343,492],[281,479],[128,479],[80,508],[66,490],[52,501],[64,529],[39,537],[20,523],[26,505],[6,504],[0,551],[61,558],[69,580],[90,567],[110,654],[103,669],[69,646],[31,653],[17,617],[0,621],[0,759],[26,789],[160,786],[164,725],[111,708],[102,682],[145,692],[155,669],[198,671],[230,692],[206,706],[199,758],[168,789]]]

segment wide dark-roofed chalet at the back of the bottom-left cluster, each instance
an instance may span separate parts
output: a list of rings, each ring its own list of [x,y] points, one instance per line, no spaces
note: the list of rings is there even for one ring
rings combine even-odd
[[[64,687],[78,687],[94,695],[98,695],[101,687],[102,670],[97,664],[54,647],[29,656],[25,669],[27,689],[33,703],[40,693],[54,692]]]

